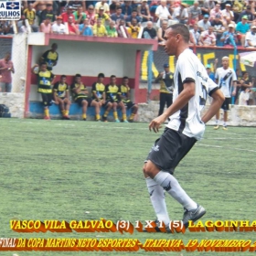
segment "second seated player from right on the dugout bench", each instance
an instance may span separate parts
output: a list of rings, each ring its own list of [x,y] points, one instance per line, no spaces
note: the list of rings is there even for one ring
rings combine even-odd
[[[107,101],[110,101],[112,103],[112,111],[113,111],[113,118],[115,120],[115,123],[120,123],[120,120],[118,119],[117,114],[117,108],[120,107],[122,109],[123,113],[123,123],[128,123],[127,117],[126,117],[126,109],[123,104],[123,101],[120,99],[120,91],[119,87],[116,85],[116,76],[111,76],[110,83],[105,88],[106,91],[106,99]],[[103,118],[105,119],[105,114],[103,115]]]

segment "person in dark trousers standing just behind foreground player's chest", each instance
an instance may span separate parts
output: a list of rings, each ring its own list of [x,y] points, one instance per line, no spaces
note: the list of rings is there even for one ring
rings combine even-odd
[[[155,82],[158,81],[160,81],[159,116],[164,112],[165,104],[168,108],[173,103],[174,74],[170,71],[169,64],[165,64],[164,71],[158,74]]]

